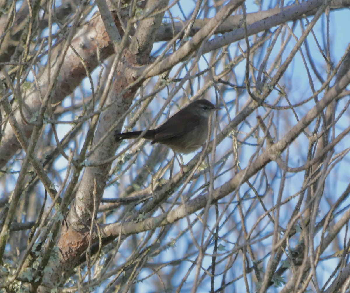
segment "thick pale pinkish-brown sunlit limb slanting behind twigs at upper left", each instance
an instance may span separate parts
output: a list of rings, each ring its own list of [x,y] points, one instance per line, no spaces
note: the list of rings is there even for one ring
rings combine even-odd
[[[100,58],[103,60],[113,53],[112,46],[109,45],[109,37],[105,32],[103,22],[100,17],[95,18],[89,24],[85,25],[76,34],[75,39],[73,39],[71,46],[79,54],[88,68],[92,71],[98,64],[97,59],[98,48],[100,50]],[[59,48],[56,48],[52,52],[52,56],[55,56],[59,52]],[[52,103],[60,103],[67,95],[73,92],[73,90],[81,83],[82,79],[86,77],[86,71],[83,64],[80,62],[80,58],[76,53],[69,48],[65,56],[64,65],[59,72],[59,77],[57,78],[57,85],[55,91],[52,93]],[[54,68],[57,66],[55,64],[53,68],[50,69],[51,75],[54,72]],[[51,79],[54,76],[51,76]],[[26,94],[25,102],[27,104],[29,112],[26,112],[26,118],[30,120],[33,113],[40,109],[41,101],[38,90],[45,95],[47,91],[48,82],[48,71],[47,69],[43,72],[41,77],[38,79],[40,89],[30,89]],[[33,125],[27,124],[21,117],[19,111],[16,112],[15,117],[29,138],[31,132],[33,131]],[[1,141],[0,148],[0,168],[5,166],[8,160],[21,148],[18,140],[16,139],[12,128],[7,125],[5,128],[5,133]]]

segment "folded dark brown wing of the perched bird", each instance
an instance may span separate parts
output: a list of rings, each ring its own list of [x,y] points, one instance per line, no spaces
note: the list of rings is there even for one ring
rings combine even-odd
[[[156,134],[152,144],[179,137],[199,126],[200,118],[197,115],[181,115],[182,118],[180,118],[181,116],[177,115],[179,113],[170,117],[168,121],[155,130]]]

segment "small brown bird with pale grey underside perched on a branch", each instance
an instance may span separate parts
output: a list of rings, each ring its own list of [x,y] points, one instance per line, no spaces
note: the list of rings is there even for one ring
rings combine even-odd
[[[158,128],[147,130],[142,137],[151,140],[151,145],[166,145],[175,153],[192,153],[207,140],[209,117],[220,109],[206,99],[195,100]],[[138,138],[141,133],[142,131],[116,133],[116,140]]]

